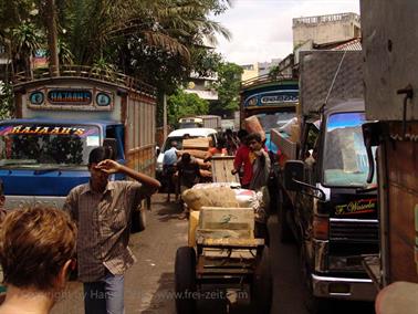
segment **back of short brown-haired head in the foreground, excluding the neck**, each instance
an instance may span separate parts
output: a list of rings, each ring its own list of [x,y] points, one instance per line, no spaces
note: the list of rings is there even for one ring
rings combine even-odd
[[[75,255],[75,240],[76,227],[62,210],[11,210],[0,230],[4,283],[44,292],[61,287]]]

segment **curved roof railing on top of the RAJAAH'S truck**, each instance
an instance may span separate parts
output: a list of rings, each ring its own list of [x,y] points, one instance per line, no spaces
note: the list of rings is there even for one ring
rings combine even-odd
[[[31,73],[31,75],[28,75],[27,72],[20,72],[14,75],[13,84],[52,77],[84,77],[105,81],[124,88],[134,90],[150,97],[156,96],[156,88],[154,86],[118,72],[84,65],[61,65],[59,72],[60,76],[56,76],[56,74],[54,75],[53,72],[54,71],[50,71],[50,69],[36,69]]]

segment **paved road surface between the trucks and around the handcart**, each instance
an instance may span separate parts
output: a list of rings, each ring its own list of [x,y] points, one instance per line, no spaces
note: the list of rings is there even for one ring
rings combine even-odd
[[[126,314],[174,314],[174,261],[178,247],[187,244],[187,221],[179,220],[180,209],[175,203],[165,203],[165,196],[153,199],[153,211],[148,212],[147,229],[132,237],[132,249],[138,262],[129,269],[125,283]],[[269,223],[271,232],[271,253],[273,258],[274,297],[272,313],[307,314],[301,295],[302,278],[295,245],[283,245],[276,241],[276,218]],[[223,293],[221,286],[210,287],[215,293]],[[70,283],[53,314],[83,313],[82,286]],[[201,301],[199,313],[226,313],[224,301]],[[342,303],[331,304],[330,313],[374,313],[372,304]],[[248,300],[240,300],[230,313],[250,314]]]

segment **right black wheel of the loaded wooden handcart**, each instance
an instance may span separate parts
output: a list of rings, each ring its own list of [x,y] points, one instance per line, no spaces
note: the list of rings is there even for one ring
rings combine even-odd
[[[269,248],[264,247],[252,280],[251,303],[254,312],[269,314],[273,297],[273,279],[271,275]]]

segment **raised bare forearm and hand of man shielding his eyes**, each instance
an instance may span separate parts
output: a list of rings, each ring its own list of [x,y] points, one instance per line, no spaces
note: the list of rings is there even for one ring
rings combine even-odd
[[[116,172],[125,174],[126,176],[142,182],[143,185],[146,185],[147,187],[153,189],[154,192],[157,191],[161,187],[161,184],[158,180],[145,174],[135,171],[134,169],[130,169],[124,165],[121,165],[116,163],[115,160],[111,160],[111,159],[103,160],[97,164],[96,168],[108,175],[116,174]]]

